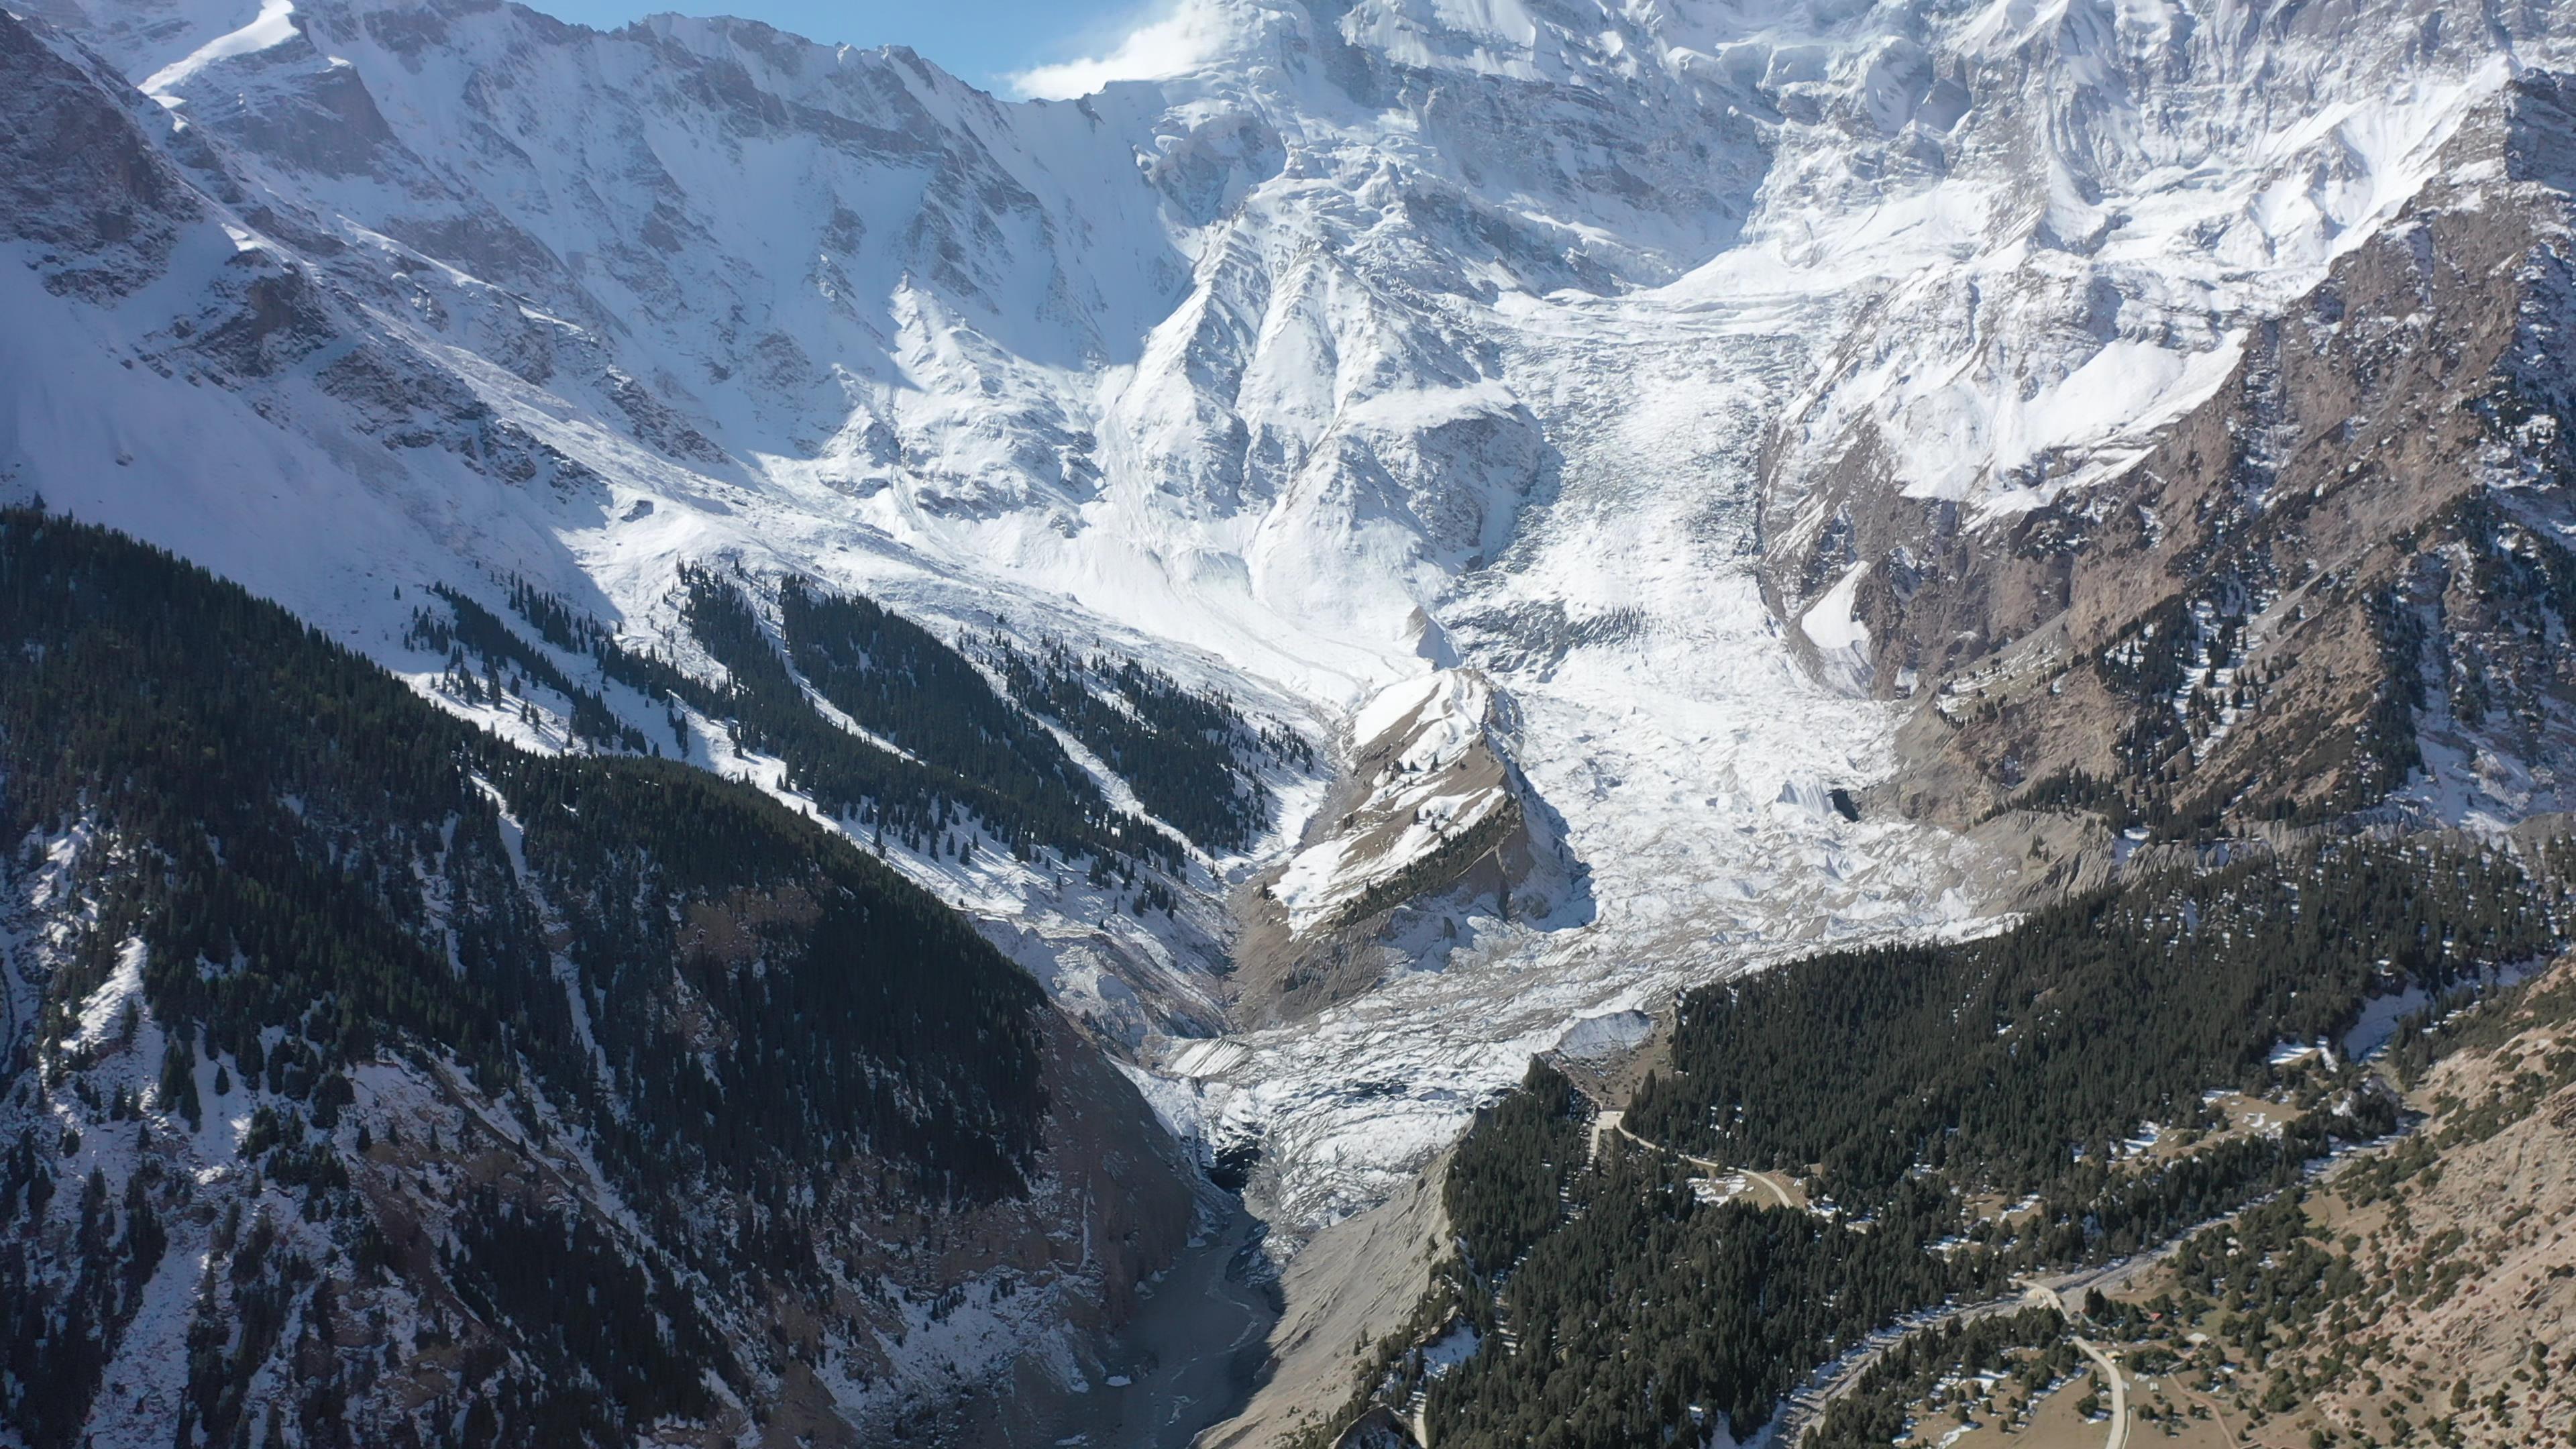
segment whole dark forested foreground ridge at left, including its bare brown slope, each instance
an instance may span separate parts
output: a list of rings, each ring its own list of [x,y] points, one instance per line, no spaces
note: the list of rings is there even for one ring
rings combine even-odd
[[[26,1444],[1043,1426],[994,1377],[1103,1372],[1203,1232],[1041,990],[765,794],[64,518],[0,588]]]

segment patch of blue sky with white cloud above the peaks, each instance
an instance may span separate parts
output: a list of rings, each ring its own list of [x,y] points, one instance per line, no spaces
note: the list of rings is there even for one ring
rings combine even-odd
[[[526,0],[528,5],[613,28],[639,15],[744,15],[817,41],[855,46],[907,44],[948,72],[1012,95],[1012,77],[1033,75],[1043,93],[1079,93],[1087,64],[1121,49],[1146,21],[1170,13],[1157,0]],[[1041,70],[1056,67],[1056,70]]]

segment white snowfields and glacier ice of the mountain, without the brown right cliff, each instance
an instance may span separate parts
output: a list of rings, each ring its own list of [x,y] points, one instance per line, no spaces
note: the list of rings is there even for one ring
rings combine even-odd
[[[1868,694],[1909,686],[1855,665],[1852,513],[1976,529],[2133,462],[2514,67],[2568,62],[2548,5],[1193,0],[1175,75],[1002,103],[744,21],[46,15],[157,103],[95,101],[149,150],[118,227],[44,193],[106,186],[77,157],[8,152],[13,498],[415,676],[404,590],[523,575],[657,639],[724,559],[1309,735],[1481,681],[1584,890],[1311,1021],[1185,1036],[1229,887],[1347,900],[1329,833],[1298,853],[1319,789],[1170,931],[902,861],[1175,1119],[1260,1137],[1291,1227],[1579,1016],[1986,910],[1978,846],[1826,804],[1893,768]],[[46,95],[0,101],[10,144]],[[1783,557],[1816,567],[1767,593]]]

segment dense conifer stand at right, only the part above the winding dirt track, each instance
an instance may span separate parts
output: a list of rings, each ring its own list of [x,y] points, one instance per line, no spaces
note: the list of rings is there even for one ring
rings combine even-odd
[[[1690,993],[1628,1124],[1873,1201],[1917,1165],[2043,1191],[2370,998],[2555,949],[2563,897],[2499,853],[2331,843],[2053,905],[1965,944],[1834,951]],[[1816,1070],[1837,1062],[1837,1070]]]

